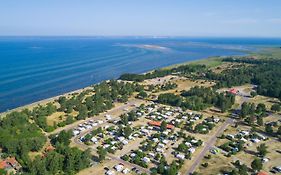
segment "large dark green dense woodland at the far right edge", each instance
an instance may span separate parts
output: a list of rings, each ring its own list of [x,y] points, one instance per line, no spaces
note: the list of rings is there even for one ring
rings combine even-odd
[[[215,88],[252,83],[257,85],[258,94],[281,99],[281,60],[226,58],[223,61],[245,64],[236,69],[224,70],[220,74],[207,72],[206,78],[217,80]]]

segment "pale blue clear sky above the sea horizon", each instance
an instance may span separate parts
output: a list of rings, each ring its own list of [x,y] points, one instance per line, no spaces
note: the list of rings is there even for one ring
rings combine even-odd
[[[1,36],[281,37],[281,0],[0,0]]]

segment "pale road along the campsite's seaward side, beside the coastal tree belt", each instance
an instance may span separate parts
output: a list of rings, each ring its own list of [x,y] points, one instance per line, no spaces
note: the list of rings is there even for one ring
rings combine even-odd
[[[118,111],[118,110],[124,110],[124,109],[130,107],[131,105],[134,105],[134,104],[136,104],[136,103],[141,103],[141,102],[143,102],[143,101],[140,100],[140,99],[129,100],[129,101],[127,102],[127,104],[124,104],[124,105],[115,107],[115,108],[109,110],[108,112],[104,112],[104,113],[99,114],[98,116],[93,116],[93,117],[91,117],[91,118],[87,118],[86,120],[79,120],[79,121],[74,122],[74,123],[72,123],[72,124],[70,124],[70,125],[66,125],[66,126],[64,126],[64,127],[57,128],[56,130],[54,130],[54,131],[52,131],[52,132],[50,132],[50,133],[46,133],[46,135],[49,136],[49,135],[52,135],[52,134],[57,134],[57,133],[59,133],[59,132],[61,132],[61,131],[63,131],[63,130],[74,129],[74,128],[77,127],[79,124],[85,123],[85,122],[87,122],[87,121],[89,121],[89,120],[93,120],[93,119],[97,119],[97,118],[103,117],[103,116],[106,115],[106,114],[113,113],[113,112]]]

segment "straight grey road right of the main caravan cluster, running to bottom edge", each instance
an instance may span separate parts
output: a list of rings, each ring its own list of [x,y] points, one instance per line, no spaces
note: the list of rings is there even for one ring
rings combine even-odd
[[[193,173],[196,169],[196,167],[200,164],[201,160],[204,158],[205,154],[210,150],[211,147],[213,147],[215,145],[215,142],[217,140],[217,137],[220,136],[222,134],[222,132],[226,129],[226,127],[229,124],[234,123],[234,119],[232,118],[228,118],[221,126],[220,128],[216,131],[216,133],[214,135],[212,135],[210,137],[210,139],[204,144],[205,147],[203,148],[203,150],[200,152],[200,154],[196,157],[195,160],[193,160],[193,163],[191,165],[191,167],[189,168],[189,170],[187,171],[187,175]]]

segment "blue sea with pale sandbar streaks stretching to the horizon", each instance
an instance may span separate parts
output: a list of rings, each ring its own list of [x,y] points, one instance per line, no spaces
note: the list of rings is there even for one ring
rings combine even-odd
[[[77,90],[123,73],[244,55],[280,39],[0,37],[0,111]]]

